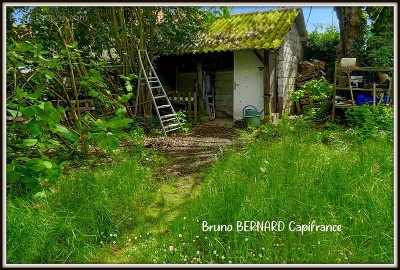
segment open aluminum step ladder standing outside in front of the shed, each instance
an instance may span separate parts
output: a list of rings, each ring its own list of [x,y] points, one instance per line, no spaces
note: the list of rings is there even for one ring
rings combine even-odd
[[[137,82],[137,94],[136,94],[136,106],[134,108],[134,115],[137,113],[137,106],[139,103],[139,90],[140,86],[146,86],[151,94],[151,100],[154,105],[154,109],[157,112],[157,116],[166,137],[167,132],[180,129],[179,119],[176,117],[175,111],[165,94],[164,88],[158,79],[157,74],[148,58],[147,50],[138,50],[138,57],[140,63],[140,71]],[[146,62],[146,68],[143,65],[143,61]],[[147,69],[147,70],[146,70]]]

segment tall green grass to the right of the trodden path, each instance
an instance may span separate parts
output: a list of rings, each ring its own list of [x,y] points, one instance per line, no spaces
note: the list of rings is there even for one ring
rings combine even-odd
[[[161,241],[169,263],[392,263],[393,147],[384,135],[261,128],[216,163]],[[300,134],[300,137],[298,137]],[[283,221],[282,232],[202,232],[201,222]],[[290,232],[288,223],[341,225]],[[181,235],[181,237],[179,237]],[[183,244],[184,243],[184,244]],[[172,252],[168,247],[172,246]]]

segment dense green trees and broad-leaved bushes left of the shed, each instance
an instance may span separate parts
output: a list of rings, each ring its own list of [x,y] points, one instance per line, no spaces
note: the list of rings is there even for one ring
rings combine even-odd
[[[127,137],[137,49],[193,42],[198,7],[7,8],[7,182],[46,195],[71,157]],[[20,24],[9,14],[23,16]],[[93,100],[95,111],[79,100]],[[70,124],[61,120],[70,112]],[[44,192],[44,193],[43,193]]]

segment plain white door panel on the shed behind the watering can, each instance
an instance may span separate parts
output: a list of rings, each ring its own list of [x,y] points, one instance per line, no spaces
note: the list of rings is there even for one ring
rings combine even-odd
[[[247,105],[257,111],[264,108],[263,70],[258,67],[262,63],[252,51],[233,52],[233,120],[243,118],[242,110]]]

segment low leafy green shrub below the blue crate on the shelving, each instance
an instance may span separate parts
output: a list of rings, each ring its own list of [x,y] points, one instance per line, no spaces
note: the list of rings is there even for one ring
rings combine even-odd
[[[393,132],[393,107],[363,104],[348,108],[345,112],[348,126],[364,135],[376,131]]]

